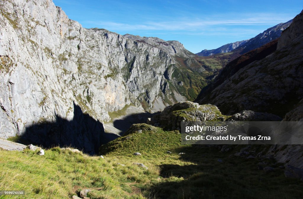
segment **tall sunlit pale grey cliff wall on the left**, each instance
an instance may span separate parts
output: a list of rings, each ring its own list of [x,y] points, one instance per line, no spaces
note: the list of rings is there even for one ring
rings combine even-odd
[[[179,42],[82,28],[50,0],[4,0],[0,11],[1,138],[58,117],[72,121],[74,103],[108,121],[108,111],[127,104],[177,101],[168,92],[175,55],[193,56]]]

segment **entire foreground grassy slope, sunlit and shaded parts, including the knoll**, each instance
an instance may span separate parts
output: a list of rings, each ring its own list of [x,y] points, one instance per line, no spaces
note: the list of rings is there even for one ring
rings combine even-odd
[[[283,169],[271,160],[262,161],[275,171],[265,173],[258,170],[260,160],[232,156],[239,147],[222,153],[214,147],[181,145],[180,137],[177,131],[135,124],[126,135],[100,148],[105,159],[59,148],[46,150],[45,156],[29,150],[0,151],[0,190],[24,189],[26,198],[70,198],[90,188],[92,199],[268,199],[303,194],[303,183],[285,178]],[[143,163],[148,170],[133,163]]]

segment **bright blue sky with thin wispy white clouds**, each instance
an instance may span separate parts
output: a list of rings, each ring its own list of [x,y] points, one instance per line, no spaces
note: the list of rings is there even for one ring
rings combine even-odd
[[[177,40],[193,53],[252,38],[303,9],[301,0],[53,1],[85,28]]]

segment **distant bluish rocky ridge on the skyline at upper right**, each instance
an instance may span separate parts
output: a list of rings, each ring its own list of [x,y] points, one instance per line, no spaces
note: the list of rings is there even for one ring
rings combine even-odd
[[[203,50],[196,55],[199,56],[211,56],[218,53],[225,53],[230,51],[239,51],[239,54],[244,54],[250,50],[255,48],[259,48],[262,45],[267,44],[270,41],[273,41],[280,37],[281,33],[291,24],[292,20],[286,23],[280,23],[275,25],[271,28],[268,28],[264,32],[258,34],[254,38],[243,40],[243,41],[236,41],[234,43],[225,44],[219,48],[212,49],[212,50]]]

